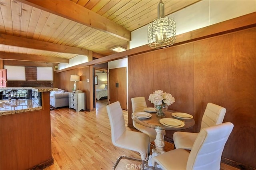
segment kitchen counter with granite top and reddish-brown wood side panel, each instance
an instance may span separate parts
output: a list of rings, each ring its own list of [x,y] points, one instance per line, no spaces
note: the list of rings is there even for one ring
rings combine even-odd
[[[10,109],[0,113],[1,170],[44,169],[53,164],[50,121],[50,91],[53,90],[0,88],[0,105]]]

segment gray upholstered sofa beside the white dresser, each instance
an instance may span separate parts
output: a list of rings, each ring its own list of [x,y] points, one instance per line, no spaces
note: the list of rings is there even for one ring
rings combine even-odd
[[[58,90],[50,92],[50,105],[54,108],[68,106],[68,91]]]

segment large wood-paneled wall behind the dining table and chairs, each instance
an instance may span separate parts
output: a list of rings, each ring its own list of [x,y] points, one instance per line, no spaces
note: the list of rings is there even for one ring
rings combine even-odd
[[[171,110],[194,116],[198,132],[208,102],[227,109],[224,122],[234,129],[224,158],[256,167],[256,27],[128,57],[129,121],[131,98],[161,89],[171,93]],[[147,100],[148,107],[153,104]],[[167,130],[166,137],[172,138]]]

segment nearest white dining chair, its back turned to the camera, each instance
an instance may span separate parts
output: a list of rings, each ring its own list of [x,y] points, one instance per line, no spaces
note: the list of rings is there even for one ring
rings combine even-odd
[[[233,127],[226,122],[203,128],[190,153],[179,148],[160,154],[152,159],[153,170],[156,163],[163,170],[220,170],[221,155]]]

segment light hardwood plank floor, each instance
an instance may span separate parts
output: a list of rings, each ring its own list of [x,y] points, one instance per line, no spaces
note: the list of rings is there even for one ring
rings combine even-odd
[[[107,99],[97,101],[96,110],[91,112],[68,108],[50,111],[54,164],[45,170],[111,170],[121,155],[140,158],[137,152],[112,144],[106,103]],[[123,113],[127,125],[128,112]],[[172,150],[173,144],[166,142],[164,149]],[[122,159],[116,169],[136,170],[139,164]],[[221,170],[237,169],[221,164]]]

